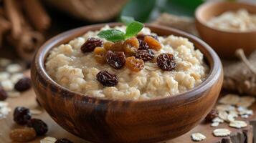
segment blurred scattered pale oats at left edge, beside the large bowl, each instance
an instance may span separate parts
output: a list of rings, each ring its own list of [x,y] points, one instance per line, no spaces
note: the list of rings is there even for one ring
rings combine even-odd
[[[19,79],[24,78],[24,67],[20,64],[15,64],[9,59],[0,59],[0,84],[1,88],[7,92],[8,97],[19,97],[20,92],[14,89],[14,85],[19,82]]]

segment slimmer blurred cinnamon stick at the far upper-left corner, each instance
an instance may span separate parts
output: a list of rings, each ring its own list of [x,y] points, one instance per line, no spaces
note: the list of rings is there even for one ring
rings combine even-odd
[[[19,12],[14,0],[4,0],[4,10],[7,18],[11,22],[11,35],[14,39],[18,39],[22,34],[22,22],[19,18]]]

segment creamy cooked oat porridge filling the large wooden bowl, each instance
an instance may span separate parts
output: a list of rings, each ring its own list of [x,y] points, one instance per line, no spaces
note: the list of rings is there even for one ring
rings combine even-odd
[[[105,29],[110,28],[105,26],[101,30]],[[125,31],[125,26],[116,26],[114,29]],[[153,50],[154,59],[144,60],[144,65],[138,66],[138,70],[129,69],[126,66],[129,63],[118,69],[110,64],[101,64],[95,60],[94,52],[81,51],[81,46],[87,39],[92,37],[100,39],[97,36],[98,32],[88,31],[68,44],[54,47],[50,51],[45,66],[47,73],[55,82],[72,91],[93,97],[150,99],[186,92],[199,85],[207,76],[209,68],[204,64],[202,52],[194,49],[194,45],[188,39],[174,35],[158,36],[161,49]],[[139,34],[156,37],[156,34],[151,33],[151,30],[146,27]],[[107,42],[105,39],[101,40],[104,43]],[[166,71],[158,67],[156,57],[164,53],[170,53],[175,57],[175,69]],[[148,57],[151,59],[150,56]],[[138,63],[140,62],[138,60]],[[110,83],[115,85],[113,87],[103,86],[97,80],[100,71],[115,74],[118,77],[118,83]]]

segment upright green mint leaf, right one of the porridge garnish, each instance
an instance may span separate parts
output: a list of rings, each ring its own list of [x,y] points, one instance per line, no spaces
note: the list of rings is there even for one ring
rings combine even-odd
[[[128,24],[126,27],[125,39],[131,38],[132,36],[138,34],[141,29],[143,29],[143,24],[141,24],[141,22],[132,21],[131,24]]]

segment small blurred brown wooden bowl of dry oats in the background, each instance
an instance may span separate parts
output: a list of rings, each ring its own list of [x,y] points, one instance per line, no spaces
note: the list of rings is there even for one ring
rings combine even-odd
[[[196,29],[204,41],[217,51],[219,56],[229,59],[234,57],[236,49],[244,49],[250,54],[256,49],[256,29],[254,31],[222,31],[207,25],[207,21],[225,11],[247,9],[256,14],[256,5],[234,2],[208,2],[196,9]]]

